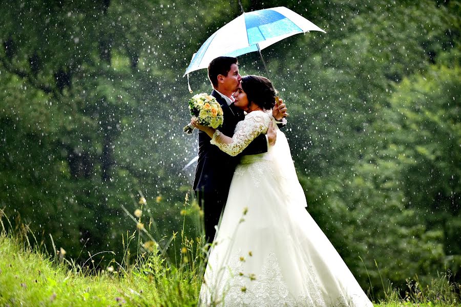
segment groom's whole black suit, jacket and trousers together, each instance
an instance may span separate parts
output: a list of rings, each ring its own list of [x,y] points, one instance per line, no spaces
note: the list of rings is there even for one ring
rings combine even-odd
[[[211,95],[222,107],[224,122],[219,130],[226,136],[233,136],[235,126],[245,118],[243,111],[234,105],[228,106],[225,99],[215,90]],[[215,237],[215,226],[218,225],[221,211],[227,201],[239,156],[229,156],[209,141],[211,139],[208,135],[199,131],[199,159],[193,188],[197,202],[203,209],[205,236],[208,242],[212,242]],[[256,155],[266,151],[266,136],[260,135],[243,150],[241,155]]]

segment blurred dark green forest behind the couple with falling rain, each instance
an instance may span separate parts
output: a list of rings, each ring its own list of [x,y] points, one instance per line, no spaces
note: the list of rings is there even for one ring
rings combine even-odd
[[[308,211],[364,289],[461,267],[458,1],[249,1],[326,31],[263,50]],[[0,207],[71,257],[199,235],[183,73],[237,1],[2,1]],[[258,54],[242,74],[262,74]],[[191,74],[209,92],[206,71]],[[145,204],[142,204],[145,197]],[[141,199],[141,202],[139,200]],[[140,204],[141,203],[141,204]],[[184,210],[184,211],[182,211]],[[162,240],[162,238],[164,238]],[[83,249],[83,252],[80,251]],[[171,249],[170,253],[174,253]],[[363,261],[362,261],[363,260]],[[379,269],[378,269],[379,268]],[[372,288],[371,288],[371,287]]]

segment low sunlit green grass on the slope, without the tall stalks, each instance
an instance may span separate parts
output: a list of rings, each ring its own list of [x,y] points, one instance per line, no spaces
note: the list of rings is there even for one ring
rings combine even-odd
[[[0,234],[0,305],[2,306],[196,306],[201,280],[192,266],[174,269],[157,252],[137,266],[117,272],[82,270],[71,262],[31,251],[17,238]],[[70,264],[69,264],[70,263]],[[117,272],[117,273],[115,273]],[[443,283],[447,283],[444,279]],[[414,288],[413,288],[414,289]],[[436,289],[431,290],[437,293]],[[457,306],[454,289],[438,289],[428,301],[417,291],[401,299],[393,290],[380,307]],[[451,291],[451,292],[449,292]],[[411,297],[411,293],[418,297]],[[426,292],[426,296],[427,296]],[[445,295],[445,296],[444,296]],[[448,297],[451,297],[451,301]],[[438,297],[438,299],[437,299]],[[456,300],[457,299],[457,300]],[[425,301],[424,301],[425,300]],[[437,302],[438,301],[438,302]]]

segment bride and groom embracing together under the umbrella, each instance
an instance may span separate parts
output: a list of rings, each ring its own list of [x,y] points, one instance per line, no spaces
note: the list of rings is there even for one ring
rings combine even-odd
[[[193,188],[213,240],[198,305],[372,307],[305,209],[271,81],[240,76],[235,57],[211,61],[208,78],[224,122],[191,122],[200,130]]]

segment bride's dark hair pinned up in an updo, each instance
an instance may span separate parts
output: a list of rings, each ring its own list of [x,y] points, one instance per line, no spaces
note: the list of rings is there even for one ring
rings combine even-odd
[[[242,90],[246,93],[249,102],[266,110],[274,107],[276,93],[269,79],[255,75],[244,76]]]

